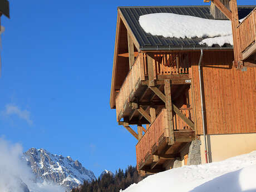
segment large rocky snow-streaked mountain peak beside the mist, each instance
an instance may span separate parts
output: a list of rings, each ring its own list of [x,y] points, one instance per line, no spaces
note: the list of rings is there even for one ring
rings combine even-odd
[[[45,149],[31,148],[24,152],[24,159],[31,166],[37,178],[53,182],[71,189],[83,183],[84,180],[96,180],[92,171],[85,169],[70,156],[53,155]]]

